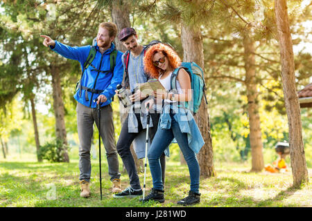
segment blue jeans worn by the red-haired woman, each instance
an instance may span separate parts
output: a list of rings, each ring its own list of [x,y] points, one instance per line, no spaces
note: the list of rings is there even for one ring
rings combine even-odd
[[[150,173],[153,177],[154,189],[163,190],[162,168],[160,166],[159,157],[164,153],[166,147],[172,142],[173,138],[177,140],[184,159],[189,166],[189,175],[191,178],[191,191],[199,193],[199,177],[200,166],[197,161],[196,153],[189,148],[187,133],[182,133],[179,124],[175,121],[173,114],[171,115],[171,128],[162,129],[158,127],[153,143],[148,151],[148,162]]]

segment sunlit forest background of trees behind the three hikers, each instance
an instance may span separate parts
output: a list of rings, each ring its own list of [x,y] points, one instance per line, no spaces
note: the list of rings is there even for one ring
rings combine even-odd
[[[287,3],[299,91],[312,80],[312,4],[306,0]],[[203,54],[200,66],[207,85],[205,121],[209,122],[206,131],[208,139],[211,137],[213,157],[209,160],[213,164],[245,162],[253,171],[261,171],[264,164],[277,159],[275,144],[288,142],[274,1],[15,0],[1,1],[0,17],[0,160],[42,161],[40,150],[51,147],[68,153],[55,154],[55,161],[78,160],[73,93],[80,66],[45,48],[40,35],[84,46],[92,44],[99,23],[118,23],[118,19],[137,30],[139,43],[158,39],[171,44],[184,59],[189,56],[183,40],[186,32],[196,33],[202,42],[202,50],[189,45]],[[115,44],[124,50],[117,40]],[[118,140],[117,97],[112,104]],[[306,165],[311,168],[312,109],[300,111]],[[256,129],[251,131],[250,125]],[[254,131],[261,145],[252,155],[250,135]],[[94,160],[97,141],[94,127]],[[255,158],[262,163],[254,163]],[[170,160],[183,162],[177,145],[171,147]],[[288,164],[290,161],[286,158]],[[208,173],[214,175],[211,167]]]

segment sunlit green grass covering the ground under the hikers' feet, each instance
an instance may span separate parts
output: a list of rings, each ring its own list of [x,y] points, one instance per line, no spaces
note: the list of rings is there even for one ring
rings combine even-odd
[[[122,164],[120,164],[122,165]],[[272,174],[248,173],[249,164],[215,163],[216,177],[200,177],[200,204],[206,207],[266,207],[312,206],[312,184],[292,189],[291,172]],[[90,198],[80,198],[78,160],[67,163],[0,162],[0,206],[27,207],[157,207],[178,206],[176,202],[189,191],[189,171],[179,162],[166,166],[165,199],[163,204],[142,204],[135,199],[114,199],[112,184],[107,173],[106,160],[102,162],[103,200],[100,200],[98,162],[92,160]],[[311,180],[309,170],[309,180]],[[139,174],[143,186],[144,173]],[[128,186],[128,175],[121,174],[122,187]],[[150,171],[147,171],[147,192],[152,187]]]

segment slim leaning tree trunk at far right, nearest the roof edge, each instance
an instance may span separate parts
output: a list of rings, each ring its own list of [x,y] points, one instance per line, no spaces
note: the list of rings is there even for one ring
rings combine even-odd
[[[295,85],[293,43],[291,40],[291,31],[289,30],[286,0],[275,0],[275,17],[281,55],[281,81],[283,83],[284,100],[288,117],[293,186],[299,187],[301,184],[309,182],[309,175],[306,168],[306,157],[302,140],[300,105]]]

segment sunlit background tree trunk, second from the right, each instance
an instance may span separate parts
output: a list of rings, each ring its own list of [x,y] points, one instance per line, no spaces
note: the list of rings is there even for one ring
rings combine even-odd
[[[245,85],[248,97],[248,116],[250,130],[250,147],[252,154],[252,172],[260,172],[264,167],[263,163],[263,144],[261,140],[261,128],[258,106],[258,92],[256,80],[256,68],[254,61],[254,41],[250,37],[245,36],[244,45],[244,61],[245,61]]]

